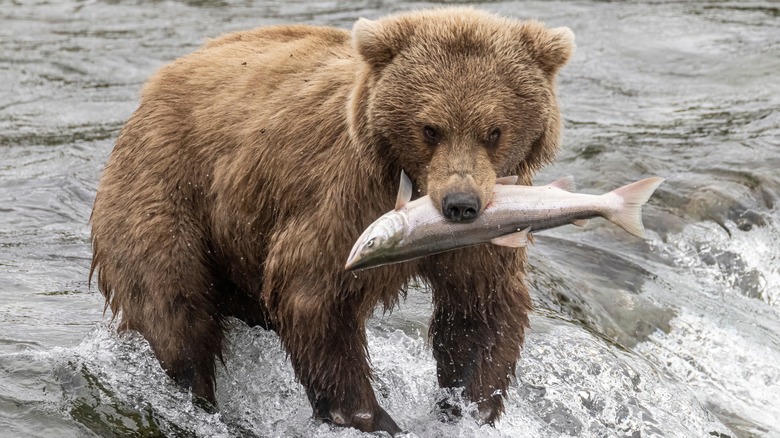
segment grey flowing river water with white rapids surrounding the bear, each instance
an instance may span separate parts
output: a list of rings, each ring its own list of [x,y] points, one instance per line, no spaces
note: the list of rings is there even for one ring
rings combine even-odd
[[[278,338],[239,322],[220,413],[193,405],[143,339],[104,318],[87,220],[113,140],[164,63],[231,30],[429,5],[0,0],[0,436],[361,435],[313,422]],[[435,419],[424,288],[370,323],[380,402],[420,437],[780,437],[780,5],[481,7],[577,35],[563,150],[539,182],[666,182],[646,242],[601,220],[537,236],[536,312],[495,428]]]

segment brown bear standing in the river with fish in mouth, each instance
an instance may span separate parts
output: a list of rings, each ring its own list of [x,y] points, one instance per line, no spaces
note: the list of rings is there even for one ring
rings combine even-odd
[[[525,252],[344,263],[394,205],[401,170],[451,221],[475,219],[497,177],[530,184],[558,149],[555,78],[573,45],[567,28],[470,8],[210,41],[157,72],[122,129],[92,212],[90,277],[120,329],[209,402],[237,317],[278,333],[317,418],[392,434],[365,324],[420,278],[439,384],[492,423],[528,326]]]

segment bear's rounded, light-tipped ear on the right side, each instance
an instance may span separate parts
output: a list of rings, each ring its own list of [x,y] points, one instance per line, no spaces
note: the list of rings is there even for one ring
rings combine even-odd
[[[574,32],[568,27],[548,29],[531,21],[524,23],[522,35],[531,56],[550,76],[558,73],[574,53]]]

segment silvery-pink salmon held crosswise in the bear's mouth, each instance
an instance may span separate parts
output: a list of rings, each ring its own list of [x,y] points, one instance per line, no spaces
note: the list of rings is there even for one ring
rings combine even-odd
[[[644,238],[642,206],[663,181],[656,176],[591,195],[574,193],[572,177],[545,186],[524,186],[516,185],[516,176],[508,176],[496,180],[492,201],[475,221],[453,223],[430,197],[411,201],[412,182],[402,171],[395,209],[366,228],[344,269],[373,268],[487,243],[520,248],[533,241],[531,232],[568,224],[584,226],[595,217]]]

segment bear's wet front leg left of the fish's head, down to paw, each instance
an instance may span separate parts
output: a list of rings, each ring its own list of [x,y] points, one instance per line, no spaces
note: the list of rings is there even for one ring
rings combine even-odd
[[[277,307],[278,333],[314,415],[364,432],[401,429],[376,400],[367,358],[365,318],[315,285],[293,282]]]

